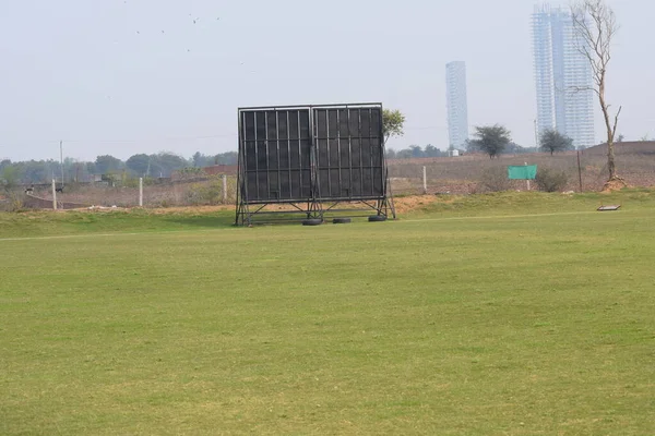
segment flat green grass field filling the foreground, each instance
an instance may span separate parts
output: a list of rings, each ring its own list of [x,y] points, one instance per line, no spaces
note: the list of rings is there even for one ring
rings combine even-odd
[[[420,203],[0,215],[0,434],[655,434],[655,193]]]

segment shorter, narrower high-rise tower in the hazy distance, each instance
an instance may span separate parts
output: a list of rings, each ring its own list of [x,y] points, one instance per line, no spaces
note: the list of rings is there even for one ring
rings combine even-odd
[[[450,146],[466,147],[468,140],[468,105],[466,102],[466,64],[451,62],[445,65],[448,133]]]

